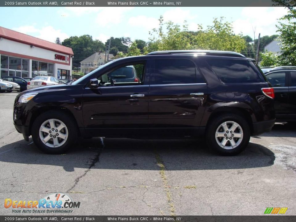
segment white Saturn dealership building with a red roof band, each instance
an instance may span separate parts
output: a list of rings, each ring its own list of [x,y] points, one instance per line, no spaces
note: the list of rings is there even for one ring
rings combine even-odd
[[[72,76],[72,48],[0,26],[0,76]]]

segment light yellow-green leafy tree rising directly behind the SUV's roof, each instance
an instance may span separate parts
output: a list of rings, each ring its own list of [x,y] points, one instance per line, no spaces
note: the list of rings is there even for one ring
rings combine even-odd
[[[144,47],[144,53],[157,50],[224,50],[241,52],[246,48],[246,41],[242,35],[235,35],[231,23],[224,18],[214,19],[213,25],[206,30],[199,25],[196,32],[188,30],[186,21],[181,27],[172,22],[163,23],[162,16],[159,19],[158,29],[154,28],[150,33],[150,41]]]

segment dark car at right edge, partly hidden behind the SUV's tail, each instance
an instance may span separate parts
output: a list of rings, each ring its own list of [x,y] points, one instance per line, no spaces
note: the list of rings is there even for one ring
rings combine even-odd
[[[277,120],[296,121],[296,67],[275,67],[265,72],[265,76],[274,88]]]

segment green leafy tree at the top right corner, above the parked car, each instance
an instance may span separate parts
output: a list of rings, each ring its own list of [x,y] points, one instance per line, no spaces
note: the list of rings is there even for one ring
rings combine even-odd
[[[296,65],[296,9],[295,0],[273,0],[277,6],[285,6],[288,14],[278,21],[278,32],[282,43],[281,65]]]

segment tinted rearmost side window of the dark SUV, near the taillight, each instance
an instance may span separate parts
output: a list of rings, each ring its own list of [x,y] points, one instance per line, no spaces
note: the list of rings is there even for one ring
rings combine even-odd
[[[251,61],[207,60],[224,83],[251,83],[265,81],[261,72]]]

